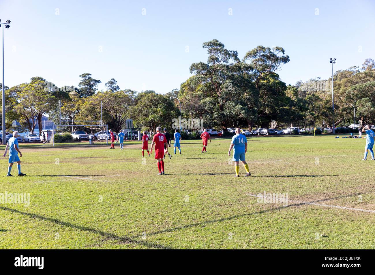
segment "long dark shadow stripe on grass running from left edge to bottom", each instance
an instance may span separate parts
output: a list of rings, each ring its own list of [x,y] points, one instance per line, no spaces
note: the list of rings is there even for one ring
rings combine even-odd
[[[13,212],[13,213],[16,213],[16,214],[29,216],[29,217],[34,218],[34,219],[50,221],[52,223],[59,224],[59,225],[62,225],[62,226],[68,226],[68,227],[71,227],[71,228],[74,228],[74,229],[96,233],[96,234],[99,234],[99,235],[101,235],[105,238],[114,239],[114,240],[117,240],[117,241],[129,243],[129,244],[130,243],[140,244],[140,245],[144,245],[148,248],[172,249],[171,247],[168,247],[168,246],[165,246],[165,245],[162,245],[162,244],[153,244],[153,243],[150,243],[150,242],[147,242],[147,241],[137,240],[137,239],[130,238],[130,237],[127,237],[127,236],[121,237],[121,236],[115,235],[113,233],[104,232],[104,231],[94,229],[94,228],[91,228],[91,227],[86,227],[86,226],[81,226],[81,225],[78,225],[78,224],[68,223],[66,221],[61,221],[61,220],[58,220],[58,219],[52,219],[52,218],[41,216],[41,215],[38,215],[38,214],[27,213],[27,212],[15,210],[15,209],[8,208],[8,207],[0,206],[0,209],[5,210],[5,211],[10,211],[10,212]]]

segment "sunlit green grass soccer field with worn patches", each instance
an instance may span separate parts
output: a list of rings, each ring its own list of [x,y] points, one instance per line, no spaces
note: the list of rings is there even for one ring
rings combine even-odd
[[[374,248],[365,139],[249,138],[252,175],[240,164],[240,178],[229,141],[204,154],[200,140],[182,141],[164,176],[139,142],[20,144],[27,176],[6,177],[3,158],[0,193],[30,193],[30,206],[0,204],[0,248]],[[258,203],[264,191],[287,193],[288,206]]]

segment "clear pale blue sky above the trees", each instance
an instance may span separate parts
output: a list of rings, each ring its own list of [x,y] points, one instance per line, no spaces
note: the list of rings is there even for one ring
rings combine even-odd
[[[77,86],[80,74],[91,73],[99,89],[114,78],[122,89],[166,93],[190,76],[192,62],[207,61],[202,43],[211,39],[240,58],[258,45],[283,47],[291,61],[279,74],[287,84],[328,78],[330,57],[335,71],[375,59],[373,0],[0,0],[0,19],[12,21],[9,87],[33,76]]]

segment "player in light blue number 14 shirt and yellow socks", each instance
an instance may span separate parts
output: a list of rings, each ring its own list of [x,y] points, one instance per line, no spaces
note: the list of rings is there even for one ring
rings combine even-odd
[[[246,163],[245,154],[248,150],[248,140],[246,139],[245,135],[241,134],[241,129],[236,128],[236,135],[233,136],[231,141],[231,146],[229,146],[228,156],[231,155],[231,150],[233,149],[233,161],[234,169],[236,170],[236,177],[239,177],[239,163],[242,162],[243,166],[246,170],[245,177],[249,177],[251,174],[249,172],[249,165]]]

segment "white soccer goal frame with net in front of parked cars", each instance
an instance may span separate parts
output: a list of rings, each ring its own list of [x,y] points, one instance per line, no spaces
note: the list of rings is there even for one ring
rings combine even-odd
[[[62,122],[65,122],[62,120]],[[74,124],[77,122],[89,121],[70,121],[72,124],[54,124],[52,125],[52,134],[48,142],[55,146],[57,143],[89,143],[94,140],[105,141],[108,144],[108,125],[102,124]],[[90,121],[91,122],[91,121]]]

